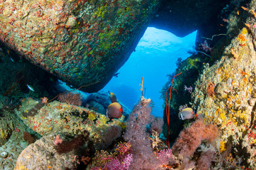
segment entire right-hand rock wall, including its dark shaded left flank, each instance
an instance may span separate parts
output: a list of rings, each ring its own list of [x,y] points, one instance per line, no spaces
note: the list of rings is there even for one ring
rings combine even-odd
[[[171,108],[177,111],[178,106],[187,104],[196,113],[202,113],[206,123],[218,126],[220,136],[215,149],[218,149],[221,157],[218,158],[215,169],[228,169],[231,166],[237,169],[255,169],[255,6],[256,2],[250,1],[234,8],[225,21],[228,24],[226,33],[211,46],[209,55],[206,55],[206,48],[201,45],[201,48],[196,48],[198,51],[181,62],[176,73],[171,75],[172,80],[174,75],[182,72],[174,79],[172,87],[178,94],[172,92]],[[204,55],[200,50],[204,51]],[[199,75],[195,84],[191,82],[195,80],[192,75]],[[168,82],[164,89],[164,98],[170,84]],[[192,94],[186,92],[182,96],[184,85],[193,86]],[[191,100],[188,100],[189,95]],[[191,121],[193,120],[184,122],[188,125]],[[173,132],[170,130],[170,133]]]

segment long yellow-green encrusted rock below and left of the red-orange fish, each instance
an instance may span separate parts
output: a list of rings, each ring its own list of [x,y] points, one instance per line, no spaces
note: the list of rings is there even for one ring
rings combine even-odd
[[[111,125],[125,127],[125,123],[122,121],[123,116],[110,121],[106,115],[88,108],[60,103],[59,101],[46,103],[37,108],[38,103],[41,101],[27,98],[21,103],[21,108],[16,111],[16,114],[31,130],[43,136],[64,133],[74,137],[83,130],[87,130],[90,132],[90,139],[99,144],[103,132]]]

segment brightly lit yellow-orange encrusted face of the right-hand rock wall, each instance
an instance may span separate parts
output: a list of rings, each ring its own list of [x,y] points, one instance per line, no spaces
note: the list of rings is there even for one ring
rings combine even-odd
[[[206,65],[192,94],[193,108],[204,114],[207,123],[220,129],[217,149],[229,154],[229,158],[225,157],[228,162],[223,159],[220,162],[224,166],[234,166],[237,162],[238,168],[250,169],[256,167],[255,6],[255,1],[251,1],[244,8],[242,17],[247,18],[244,25],[238,24],[241,18],[237,13],[230,15],[228,33],[231,36],[235,35],[234,30],[239,32],[225,47],[221,59],[211,67]],[[235,25],[233,18],[237,21]]]

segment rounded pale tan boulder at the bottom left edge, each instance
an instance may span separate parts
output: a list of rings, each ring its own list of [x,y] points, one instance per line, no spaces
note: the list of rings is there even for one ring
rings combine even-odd
[[[75,153],[58,154],[53,141],[54,137],[48,135],[26,147],[18,156],[14,169],[75,169],[78,166]]]

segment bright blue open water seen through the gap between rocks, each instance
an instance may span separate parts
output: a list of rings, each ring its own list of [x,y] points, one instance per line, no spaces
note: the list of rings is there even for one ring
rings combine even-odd
[[[189,57],[187,52],[195,45],[195,40],[196,32],[178,38],[166,30],[147,28],[135,52],[119,69],[118,77],[113,77],[102,91],[113,92],[132,109],[142,96],[139,84],[144,77],[145,97],[154,102],[152,114],[163,117],[164,101],[159,98],[159,91],[168,80],[166,74],[175,71],[178,57],[183,60]]]

